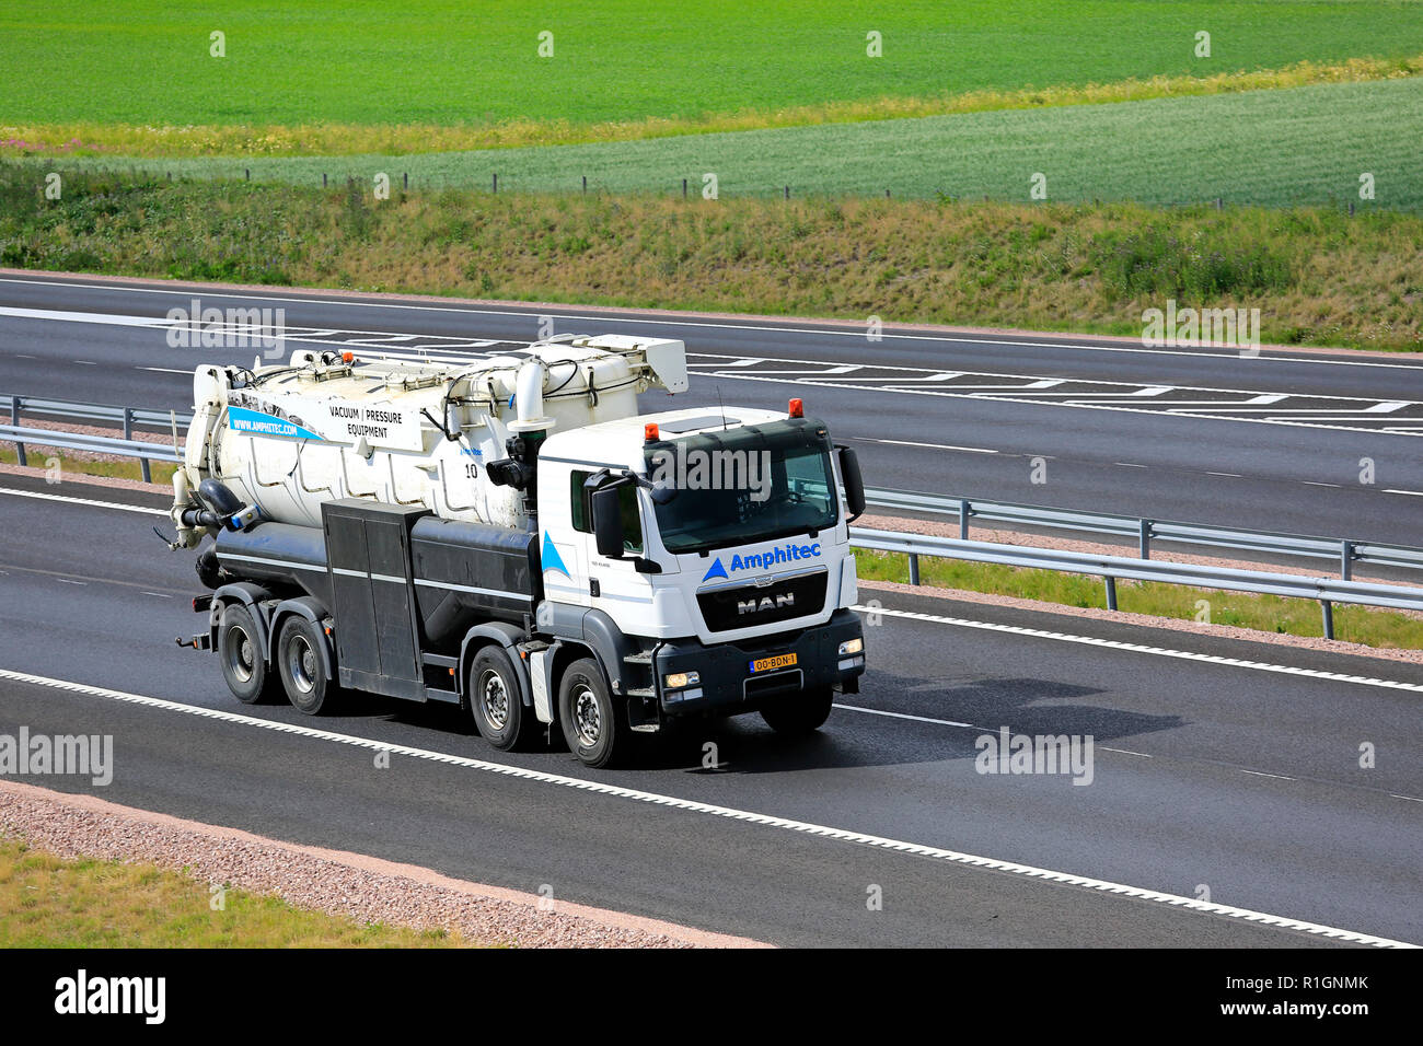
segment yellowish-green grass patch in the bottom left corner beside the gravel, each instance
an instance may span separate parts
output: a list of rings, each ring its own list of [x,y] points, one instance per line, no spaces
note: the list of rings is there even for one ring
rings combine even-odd
[[[219,884],[221,885],[221,884]],[[0,838],[0,948],[451,948],[458,934],[360,924],[152,864],[64,860]]]

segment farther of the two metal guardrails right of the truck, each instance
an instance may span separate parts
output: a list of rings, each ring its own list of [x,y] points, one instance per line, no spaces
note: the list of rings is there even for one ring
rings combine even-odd
[[[1339,564],[1339,576],[1343,581],[1350,579],[1355,564],[1423,569],[1423,548],[1409,545],[1312,538],[1301,534],[1276,534],[1269,531],[1242,531],[1229,527],[1211,527],[1208,524],[1140,519],[1126,515],[1076,512],[1072,509],[1044,508],[1042,505],[952,498],[941,494],[918,494],[914,491],[867,490],[865,501],[879,508],[956,517],[961,541],[968,541],[969,521],[976,518],[992,522],[1077,531],[1079,534],[1136,538],[1141,559],[1151,558],[1151,542],[1157,539],[1181,545],[1228,548],[1242,552],[1333,559]]]

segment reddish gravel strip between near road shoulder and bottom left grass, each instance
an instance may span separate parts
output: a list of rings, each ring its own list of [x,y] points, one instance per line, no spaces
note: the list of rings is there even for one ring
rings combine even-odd
[[[60,857],[151,862],[299,908],[518,948],[763,948],[746,938],[453,879],[428,868],[0,780],[0,835]]]

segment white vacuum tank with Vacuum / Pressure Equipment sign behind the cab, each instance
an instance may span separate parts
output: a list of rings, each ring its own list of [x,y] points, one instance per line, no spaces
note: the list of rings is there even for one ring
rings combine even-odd
[[[370,498],[524,527],[522,495],[485,472],[508,437],[632,417],[653,386],[687,389],[682,342],[609,334],[470,363],[296,352],[252,370],[205,364],[174,475],[178,537],[195,546],[205,534],[181,514],[209,477],[287,524],[320,527],[323,501]]]

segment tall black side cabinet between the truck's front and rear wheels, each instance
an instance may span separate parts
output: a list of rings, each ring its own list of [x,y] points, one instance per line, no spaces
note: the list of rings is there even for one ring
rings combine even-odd
[[[410,531],[427,514],[357,498],[322,505],[342,686],[425,700]]]

